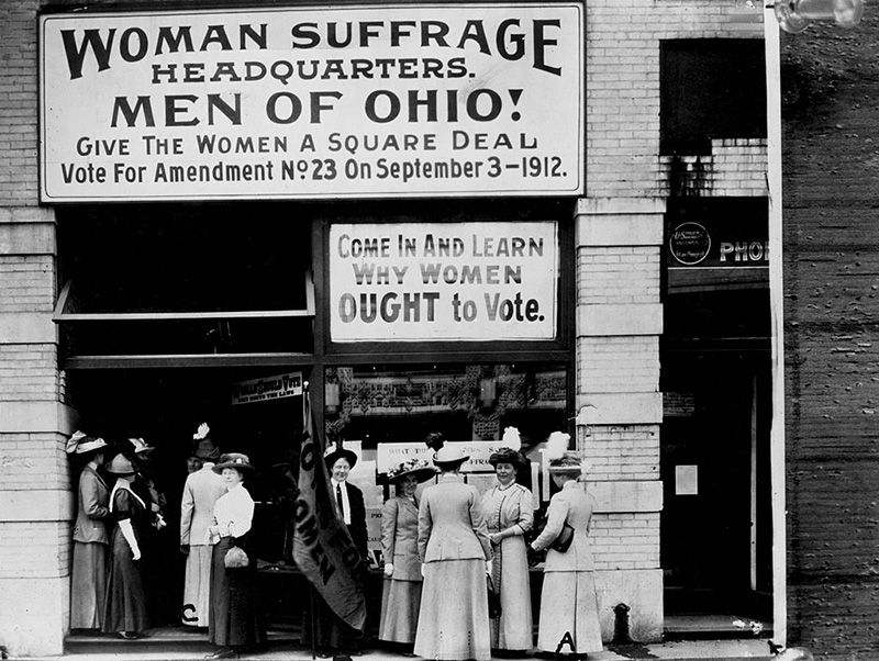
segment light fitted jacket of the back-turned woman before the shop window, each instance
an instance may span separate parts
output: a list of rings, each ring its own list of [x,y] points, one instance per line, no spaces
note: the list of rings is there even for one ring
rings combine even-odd
[[[419,506],[419,557],[422,562],[491,559],[476,486],[445,474],[424,490]]]

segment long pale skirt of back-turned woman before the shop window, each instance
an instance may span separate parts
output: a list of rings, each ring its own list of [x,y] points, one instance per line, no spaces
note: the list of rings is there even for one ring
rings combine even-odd
[[[485,560],[439,560],[424,565],[414,652],[449,661],[491,658]]]

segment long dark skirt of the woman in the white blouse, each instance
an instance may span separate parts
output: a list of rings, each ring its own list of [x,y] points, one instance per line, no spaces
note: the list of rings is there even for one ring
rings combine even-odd
[[[265,641],[256,600],[256,562],[226,569],[223,564],[232,538],[223,537],[211,557],[211,607],[208,639],[224,647],[255,647]]]

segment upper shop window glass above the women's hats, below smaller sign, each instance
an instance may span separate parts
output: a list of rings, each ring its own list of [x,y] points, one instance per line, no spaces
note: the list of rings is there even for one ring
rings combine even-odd
[[[430,432],[497,440],[515,426],[523,447],[535,445],[566,426],[566,374],[561,365],[327,368],[326,437],[375,450]]]

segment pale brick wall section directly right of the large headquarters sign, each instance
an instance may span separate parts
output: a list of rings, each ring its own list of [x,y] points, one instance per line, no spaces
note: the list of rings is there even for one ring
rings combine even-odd
[[[741,0],[587,2],[587,192],[666,194],[659,163],[659,42],[763,37]],[[735,137],[735,136],[730,136]]]

